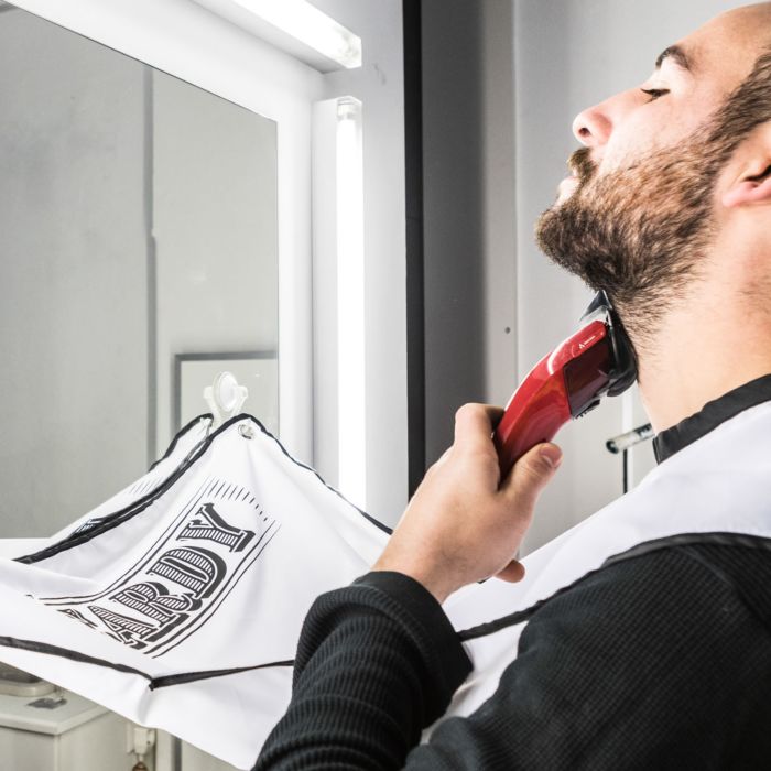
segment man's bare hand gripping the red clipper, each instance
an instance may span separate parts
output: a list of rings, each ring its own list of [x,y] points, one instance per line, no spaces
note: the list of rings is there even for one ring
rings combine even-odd
[[[492,575],[522,579],[513,555],[562,453],[537,445],[501,481],[491,438],[501,413],[482,404],[458,410],[453,446],[426,473],[373,571],[411,576],[439,602]]]

